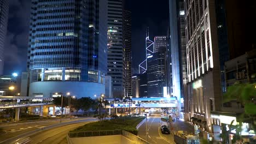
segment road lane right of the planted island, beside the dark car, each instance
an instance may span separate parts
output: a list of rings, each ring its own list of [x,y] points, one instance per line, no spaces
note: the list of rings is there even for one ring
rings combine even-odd
[[[150,143],[168,144],[174,143],[173,135],[161,134],[160,116],[150,116],[147,121],[147,141]],[[146,140],[146,123],[143,123],[138,129],[138,136]]]

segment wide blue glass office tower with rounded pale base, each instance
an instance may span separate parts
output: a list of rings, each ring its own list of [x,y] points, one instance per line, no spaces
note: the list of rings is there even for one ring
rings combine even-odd
[[[104,94],[107,2],[32,0],[27,70],[30,96]]]

